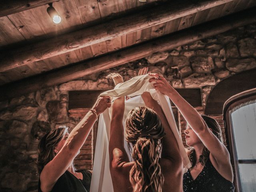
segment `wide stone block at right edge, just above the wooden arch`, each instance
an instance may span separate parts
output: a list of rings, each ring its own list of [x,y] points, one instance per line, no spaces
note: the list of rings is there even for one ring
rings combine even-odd
[[[242,72],[245,70],[256,68],[256,61],[254,58],[229,59],[226,62],[226,68],[232,72]]]

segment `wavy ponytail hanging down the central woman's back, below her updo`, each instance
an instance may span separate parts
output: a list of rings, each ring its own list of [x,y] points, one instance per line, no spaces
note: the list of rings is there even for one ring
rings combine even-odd
[[[162,192],[164,176],[159,164],[160,142],[152,138],[138,138],[132,158],[130,182],[134,192]]]

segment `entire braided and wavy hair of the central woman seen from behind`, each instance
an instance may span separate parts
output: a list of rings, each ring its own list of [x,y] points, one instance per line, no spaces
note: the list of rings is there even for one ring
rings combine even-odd
[[[158,161],[164,135],[161,121],[152,109],[136,107],[129,112],[124,136],[133,146],[130,182],[134,192],[162,192],[164,176]]]

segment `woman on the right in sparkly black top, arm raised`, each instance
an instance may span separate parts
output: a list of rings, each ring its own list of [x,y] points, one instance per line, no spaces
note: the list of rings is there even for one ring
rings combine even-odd
[[[187,121],[186,144],[192,167],[183,175],[184,192],[234,192],[230,155],[222,143],[222,132],[213,118],[200,115],[178,92],[158,74],[154,78],[156,90],[168,96]]]

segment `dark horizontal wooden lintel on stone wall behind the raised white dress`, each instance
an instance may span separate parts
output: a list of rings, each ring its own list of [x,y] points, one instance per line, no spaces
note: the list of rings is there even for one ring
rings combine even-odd
[[[202,106],[200,89],[184,88],[176,90],[193,107]],[[91,108],[99,94],[102,92],[104,92],[104,90],[70,91],[68,108]],[[172,106],[174,106],[173,103]]]

